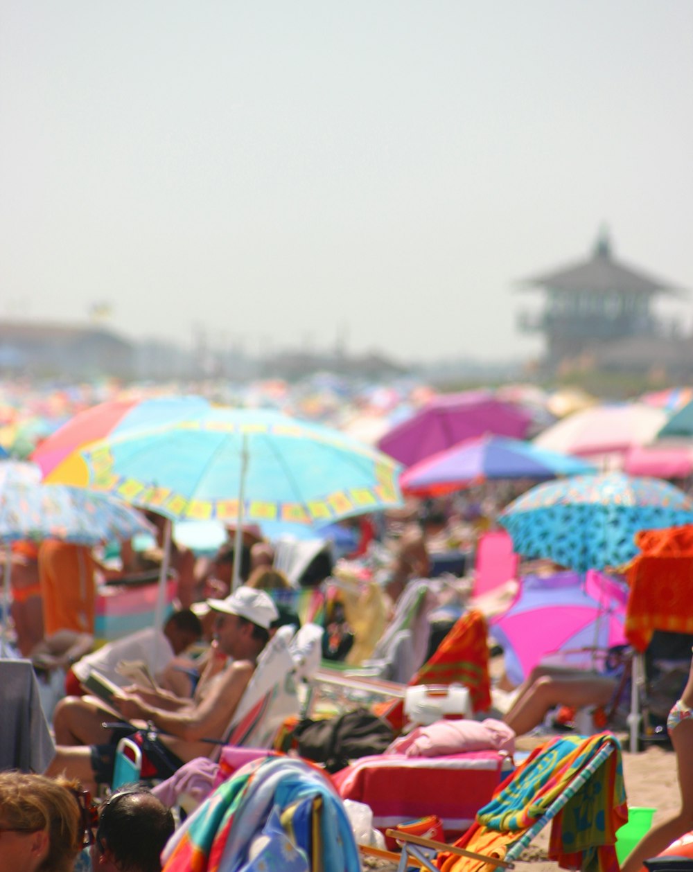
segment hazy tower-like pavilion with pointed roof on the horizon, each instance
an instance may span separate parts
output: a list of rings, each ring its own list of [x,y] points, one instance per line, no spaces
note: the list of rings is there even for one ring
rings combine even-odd
[[[547,368],[580,358],[598,361],[621,342],[656,353],[657,347],[676,335],[676,330],[654,316],[650,306],[655,296],[680,296],[683,291],[617,261],[603,232],[586,261],[542,273],[521,285],[525,290],[545,292],[543,310],[534,315],[521,313],[518,327],[544,335]],[[642,340],[647,343],[642,344]],[[616,355],[612,365],[618,359],[626,364],[630,358],[628,354],[622,358]],[[646,369],[653,362],[643,361]]]

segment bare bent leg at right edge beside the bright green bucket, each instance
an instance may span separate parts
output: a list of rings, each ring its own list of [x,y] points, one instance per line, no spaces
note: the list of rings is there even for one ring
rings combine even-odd
[[[693,719],[683,720],[671,733],[676,751],[681,808],[678,814],[656,824],[626,857],[621,872],[637,872],[650,857],[661,854],[672,841],[693,829]]]

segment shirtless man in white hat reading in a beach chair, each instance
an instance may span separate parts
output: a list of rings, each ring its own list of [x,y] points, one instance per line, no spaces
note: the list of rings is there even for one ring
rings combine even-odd
[[[201,681],[192,699],[141,687],[120,691],[113,698],[113,708],[123,719],[151,723],[161,732],[156,741],[174,765],[209,757],[215,741],[225,738],[257,657],[270,638],[271,624],[278,618],[277,607],[264,590],[240,587],[225,599],[208,603],[216,613],[216,645],[229,663],[213,678]],[[46,774],[66,772],[92,787],[110,783],[115,746],[124,733],[103,726],[104,719],[113,719],[113,712],[99,700],[75,701],[69,731],[60,737]]]

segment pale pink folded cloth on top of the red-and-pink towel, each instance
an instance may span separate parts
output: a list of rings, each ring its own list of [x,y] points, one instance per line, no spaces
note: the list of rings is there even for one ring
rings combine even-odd
[[[388,747],[386,754],[439,757],[463,751],[515,751],[515,733],[502,720],[437,720],[419,726]]]

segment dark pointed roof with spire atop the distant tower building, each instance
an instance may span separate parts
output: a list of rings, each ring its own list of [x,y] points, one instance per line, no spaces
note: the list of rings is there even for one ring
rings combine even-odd
[[[672,283],[649,276],[641,269],[634,269],[616,261],[611,253],[608,237],[603,232],[588,260],[575,263],[564,269],[557,269],[554,272],[532,276],[532,278],[524,279],[520,285],[525,290],[549,288],[566,291],[566,293],[577,293],[584,290],[595,293],[606,293],[614,290],[626,294],[654,295],[665,293],[673,296],[682,296],[688,293]]]

